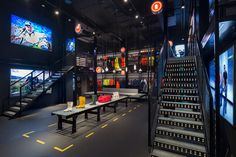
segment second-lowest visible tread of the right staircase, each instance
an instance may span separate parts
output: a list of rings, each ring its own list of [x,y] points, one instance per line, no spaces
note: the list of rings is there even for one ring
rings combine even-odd
[[[206,153],[206,147],[204,147],[202,145],[198,145],[198,144],[192,144],[192,143],[188,143],[188,142],[182,142],[179,140],[171,140],[171,139],[161,138],[161,137],[155,137],[155,142],[160,142],[160,143],[164,143],[164,144],[168,144],[168,145],[172,145],[172,146],[178,146],[178,147],[187,148],[190,150],[196,150],[199,152]]]

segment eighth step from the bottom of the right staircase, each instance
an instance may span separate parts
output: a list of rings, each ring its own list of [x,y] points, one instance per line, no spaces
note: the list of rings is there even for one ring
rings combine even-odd
[[[198,95],[197,89],[179,89],[179,88],[162,88],[161,89],[163,94],[176,94],[176,95]]]

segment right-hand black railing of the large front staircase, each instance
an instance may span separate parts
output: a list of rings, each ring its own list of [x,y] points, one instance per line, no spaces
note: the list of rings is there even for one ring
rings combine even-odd
[[[190,54],[195,56],[197,73],[198,73],[198,83],[199,83],[199,96],[202,104],[202,112],[204,118],[205,135],[206,135],[206,146],[208,156],[211,156],[212,150],[212,135],[213,135],[213,98],[211,93],[211,88],[209,84],[208,74],[206,71],[206,66],[204,65],[201,56],[201,46],[197,37],[194,36],[192,43],[189,44]]]

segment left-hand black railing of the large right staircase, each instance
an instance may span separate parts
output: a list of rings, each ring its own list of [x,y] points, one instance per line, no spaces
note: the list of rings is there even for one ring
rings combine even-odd
[[[161,93],[161,83],[162,78],[165,72],[165,65],[168,59],[169,54],[169,46],[165,46],[168,42],[163,43],[163,47],[160,52],[160,57],[158,59],[157,67],[155,70],[155,77],[152,85],[152,90],[149,94],[148,98],[148,145],[150,148],[153,146],[153,142],[155,139],[155,130],[157,127],[157,118],[158,112],[160,109],[160,93]],[[166,49],[166,48],[167,49]]]

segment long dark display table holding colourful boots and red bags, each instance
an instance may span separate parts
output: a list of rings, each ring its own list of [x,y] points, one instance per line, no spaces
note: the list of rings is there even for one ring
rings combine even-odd
[[[114,113],[116,113],[116,108],[119,102],[126,100],[126,106],[127,106],[127,96],[120,96],[119,99],[111,100],[106,103],[99,103],[97,102],[96,105],[92,105],[92,103],[86,104],[85,108],[79,108],[73,107],[72,111],[65,112],[64,110],[55,111],[52,112],[52,115],[56,115],[58,117],[58,129],[62,130],[62,123],[67,123],[72,125],[72,133],[76,132],[76,120],[77,117],[80,114],[85,113],[85,119],[88,119],[88,113],[90,114],[96,114],[97,115],[97,121],[100,121],[100,112],[101,108],[103,107],[103,110],[105,111],[106,107],[113,108]],[[94,111],[96,110],[96,111]],[[72,120],[69,120],[72,118]]]

